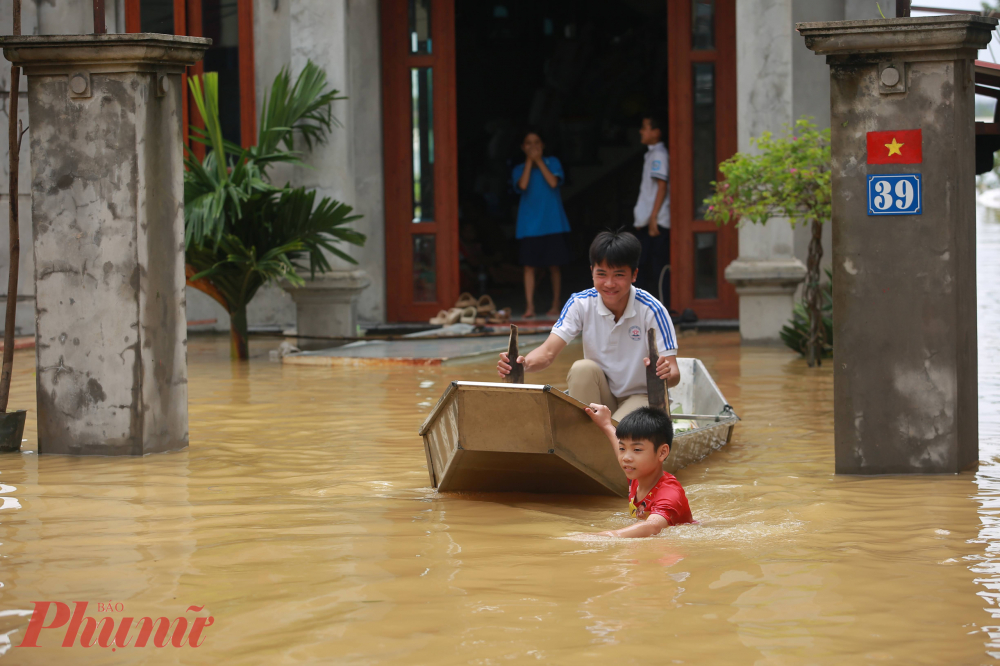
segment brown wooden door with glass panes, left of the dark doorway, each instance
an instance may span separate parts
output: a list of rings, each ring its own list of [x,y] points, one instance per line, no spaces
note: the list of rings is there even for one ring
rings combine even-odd
[[[458,298],[454,0],[382,1],[389,321]]]

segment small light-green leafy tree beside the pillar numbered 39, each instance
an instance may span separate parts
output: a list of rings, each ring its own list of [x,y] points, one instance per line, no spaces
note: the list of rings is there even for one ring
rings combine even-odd
[[[821,364],[826,344],[820,262],[823,223],[831,214],[830,130],[800,118],[794,128],[785,126],[778,136],[765,132],[751,145],[755,152],[737,153],[719,165],[723,179],[712,183],[714,192],[705,199],[706,218],[719,224],[765,224],[784,217],[793,227],[809,225],[803,302],[809,318],[805,356],[814,367]]]

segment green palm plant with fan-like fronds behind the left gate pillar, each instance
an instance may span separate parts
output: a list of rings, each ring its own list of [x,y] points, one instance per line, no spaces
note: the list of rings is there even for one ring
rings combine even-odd
[[[344,99],[328,88],[326,73],[312,62],[292,84],[282,69],[264,96],[257,144],[226,141],[219,120],[218,75],[191,77],[191,97],[205,128],[191,128],[193,141],[209,148],[199,160],[188,150],[184,174],[184,236],[188,284],[215,299],[230,318],[231,352],[249,357],[247,305],[266,284],[282,278],[301,285],[330,270],[328,254],[357,263],[337,247],[363,245],[349,225],[360,215],[304,187],[271,183],[274,164],[302,164],[296,140],[307,148],[323,143],[337,125],[331,106]]]

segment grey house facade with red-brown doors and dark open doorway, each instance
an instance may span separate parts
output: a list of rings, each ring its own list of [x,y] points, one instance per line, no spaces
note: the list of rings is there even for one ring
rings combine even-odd
[[[25,34],[92,30],[89,0],[22,2]],[[886,16],[894,15],[894,0],[881,4]],[[868,0],[106,5],[112,32],[213,39],[192,74],[219,72],[226,133],[244,145],[254,140],[262,98],[282,67],[294,73],[312,60],[326,70],[347,97],[334,109],[342,127],[305,156],[307,166],[283,176],[363,215],[356,226],[368,240],[346,249],[370,282],[357,302],[362,325],[426,320],[461,291],[503,283],[505,266],[516,261],[494,250],[513,242],[516,200],[507,174],[516,160],[511,147],[527,125],[543,128],[567,167],[563,195],[583,268],[567,281],[572,288],[585,280],[593,232],[632,222],[644,150],[636,125],[654,114],[663,119],[671,173],[671,269],[659,285],[673,309],[738,319],[744,339],[759,342],[776,340],[790,316],[805,274],[807,232],[782,220],[718,227],[702,219],[701,201],[718,164],[749,149],[751,137],[803,115],[829,125],[828,68],[805,49],[794,24],[879,12]],[[6,34],[10,15],[10,0],[0,1]],[[9,90],[7,76],[4,69],[2,90]],[[25,89],[22,83],[22,95]],[[20,109],[30,127],[26,106]],[[29,183],[26,154],[21,164],[21,182]],[[21,196],[27,248],[30,196]],[[0,211],[6,215],[7,207]],[[0,235],[2,262],[6,235]],[[34,321],[28,252],[21,271],[18,329],[28,334]],[[193,328],[228,329],[225,312],[200,292],[188,290],[187,306],[188,319],[200,322]],[[295,326],[295,303],[270,287],[249,315],[251,327],[285,330]]]

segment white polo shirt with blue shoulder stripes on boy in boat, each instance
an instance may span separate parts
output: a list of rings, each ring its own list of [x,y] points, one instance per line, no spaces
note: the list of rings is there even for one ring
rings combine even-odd
[[[677,355],[677,336],[666,308],[648,292],[630,288],[625,314],[615,315],[596,289],[573,294],[552,332],[566,342],[583,333],[583,357],[601,366],[616,398],[646,393],[646,331],[656,331],[660,356]]]

